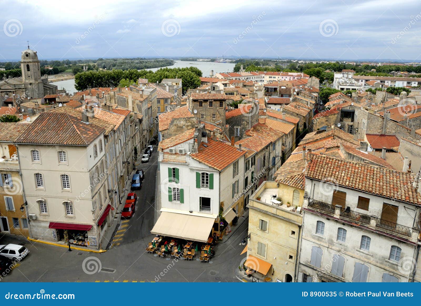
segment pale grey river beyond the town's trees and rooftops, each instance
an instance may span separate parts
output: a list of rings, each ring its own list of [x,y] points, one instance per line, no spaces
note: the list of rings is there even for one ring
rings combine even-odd
[[[213,73],[216,72],[232,72],[234,69],[234,63],[215,63],[215,62],[192,62],[192,61],[174,61],[175,64],[172,66],[166,66],[168,68],[184,68],[184,67],[197,67],[202,70],[203,76],[209,76],[210,70],[213,70]],[[163,68],[163,67],[160,67]],[[160,68],[151,68],[152,71],[157,71]],[[77,90],[75,89],[75,79],[66,80],[66,81],[59,81],[51,83],[56,85],[59,89],[66,89],[69,94],[75,93]]]

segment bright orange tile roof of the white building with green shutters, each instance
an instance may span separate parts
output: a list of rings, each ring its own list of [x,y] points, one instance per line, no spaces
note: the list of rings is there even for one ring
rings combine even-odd
[[[239,151],[236,147],[226,142],[208,138],[208,142],[202,142],[199,145],[198,152],[190,156],[207,166],[221,171],[245,155],[245,153],[245,150]]]

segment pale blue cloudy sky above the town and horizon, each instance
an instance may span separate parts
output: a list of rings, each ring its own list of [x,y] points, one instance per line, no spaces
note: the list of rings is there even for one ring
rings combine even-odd
[[[2,0],[0,60],[253,56],[421,62],[419,0]]]

